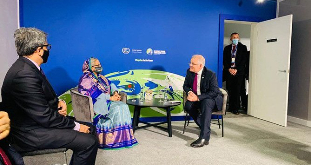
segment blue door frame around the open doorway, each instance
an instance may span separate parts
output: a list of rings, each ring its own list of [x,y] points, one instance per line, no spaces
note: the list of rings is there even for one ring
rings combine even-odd
[[[266,19],[261,18],[261,17],[249,17],[249,16],[240,16],[240,15],[219,14],[218,74],[217,74],[217,80],[218,80],[219,87],[222,87],[225,20],[235,20],[235,21],[257,22],[258,23],[258,22],[265,21]]]

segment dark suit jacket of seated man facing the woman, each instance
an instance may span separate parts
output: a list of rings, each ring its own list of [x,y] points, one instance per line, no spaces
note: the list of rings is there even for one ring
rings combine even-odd
[[[186,78],[184,81],[183,89],[187,93],[192,91],[195,73],[187,70]],[[218,110],[222,110],[223,98],[222,93],[218,88],[217,77],[214,72],[203,68],[200,82],[201,95],[198,95],[199,100],[214,99]]]

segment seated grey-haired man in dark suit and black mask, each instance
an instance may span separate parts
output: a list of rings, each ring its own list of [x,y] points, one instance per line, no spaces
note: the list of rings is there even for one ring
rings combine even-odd
[[[40,68],[51,48],[47,34],[36,28],[20,28],[14,38],[19,58],[7,72],[1,94],[11,119],[15,149],[68,148],[73,150],[70,164],[95,164],[95,128],[66,116],[66,103],[57,98]]]

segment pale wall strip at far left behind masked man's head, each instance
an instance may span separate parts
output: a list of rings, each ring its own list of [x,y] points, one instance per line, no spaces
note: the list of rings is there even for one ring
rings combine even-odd
[[[19,27],[18,23],[18,0],[1,0],[0,5],[0,86],[3,79],[18,58],[13,34]],[[1,91],[0,91],[1,93]],[[1,101],[0,95],[0,101]]]

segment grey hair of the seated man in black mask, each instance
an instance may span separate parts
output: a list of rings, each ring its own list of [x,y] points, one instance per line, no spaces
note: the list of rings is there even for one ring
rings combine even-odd
[[[47,33],[37,28],[19,28],[14,32],[16,52],[19,56],[33,54],[47,41]]]

